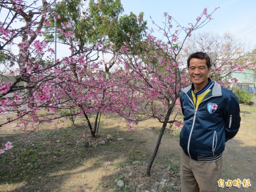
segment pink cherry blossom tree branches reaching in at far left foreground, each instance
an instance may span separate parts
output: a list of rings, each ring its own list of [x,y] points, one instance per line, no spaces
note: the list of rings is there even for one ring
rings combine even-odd
[[[66,38],[69,38],[70,56],[54,62],[54,50],[41,37],[45,32],[44,26],[50,24],[48,20],[49,13],[55,13],[55,10],[50,9],[55,1],[47,3],[43,0],[39,6],[37,6],[37,3],[37,1],[34,1],[32,4],[27,4],[22,0],[10,0],[1,1],[0,4],[1,13],[7,13],[6,19],[0,23],[0,50],[6,58],[7,56],[10,57],[12,63],[6,68],[9,74],[15,77],[14,82],[1,83],[0,94],[2,101],[0,108],[1,113],[17,112],[16,118],[8,117],[7,121],[2,123],[1,126],[20,119],[21,123],[17,126],[23,126],[24,129],[27,129],[29,122],[37,123],[38,127],[42,122],[51,122],[53,119],[60,118],[61,115],[57,109],[68,108],[68,106],[70,107],[71,104],[74,104],[73,102],[70,104],[70,101],[73,101],[72,99],[61,94],[63,90],[58,93],[58,87],[63,86],[65,81],[69,82],[69,86],[72,86],[72,81],[79,84],[79,80],[81,81],[83,78],[75,76],[76,79],[74,80],[64,75],[76,75],[76,66],[74,64],[83,65],[85,69],[93,73],[95,64],[90,62],[93,62],[94,59],[91,60],[90,58],[92,55],[99,53],[99,45],[76,49],[79,43],[73,42],[72,30],[60,30]],[[54,20],[60,18],[59,15],[54,15]],[[24,21],[23,25],[16,24],[22,21]],[[67,24],[64,23],[66,26]],[[14,53],[6,49],[10,44],[19,47],[19,52]],[[83,54],[80,54],[81,52]],[[14,64],[16,65],[14,66]],[[86,64],[86,67],[84,64]],[[13,71],[12,68],[16,66],[17,68]],[[25,82],[25,87],[15,88],[21,81]],[[81,88],[81,86],[77,88]],[[73,87],[75,86],[73,85]],[[25,90],[25,93],[17,92],[22,90]],[[71,89],[68,91],[72,92]],[[13,93],[13,96],[5,98],[8,93]],[[55,99],[55,96],[58,96],[57,99]],[[58,99],[61,99],[61,102]],[[38,111],[41,108],[47,109],[48,113],[54,111],[55,115],[39,118]],[[87,108],[91,108],[91,106],[87,106]],[[79,114],[81,111],[74,113]],[[36,127],[32,125],[33,129],[35,131]],[[93,130],[91,129],[91,131]]]

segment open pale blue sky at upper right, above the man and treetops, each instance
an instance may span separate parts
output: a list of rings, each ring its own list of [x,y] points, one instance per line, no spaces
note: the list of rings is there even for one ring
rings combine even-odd
[[[144,12],[144,20],[150,28],[150,16],[158,24],[164,22],[163,13],[167,12],[181,26],[187,26],[187,23],[195,23],[204,8],[211,13],[219,7],[212,15],[213,19],[197,32],[218,35],[228,32],[250,49],[256,48],[256,0],[121,0],[121,4],[123,14]]]

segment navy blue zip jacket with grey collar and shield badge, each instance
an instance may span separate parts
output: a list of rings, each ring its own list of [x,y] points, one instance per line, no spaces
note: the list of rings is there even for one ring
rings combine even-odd
[[[233,138],[240,127],[239,101],[235,94],[216,81],[195,110],[192,85],[180,93],[184,125],[180,131],[180,146],[192,159],[198,156],[221,155],[225,142]]]

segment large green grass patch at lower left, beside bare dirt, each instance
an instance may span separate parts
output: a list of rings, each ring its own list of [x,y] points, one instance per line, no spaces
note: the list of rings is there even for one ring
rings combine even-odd
[[[73,138],[81,137],[83,131],[77,128],[59,129],[44,132],[41,138],[30,137],[31,142],[15,142],[12,150],[0,155],[0,184],[30,183],[30,180],[38,177],[49,180],[49,173],[63,170],[63,166],[56,166],[56,164],[65,163],[65,170],[79,166],[81,159],[85,156],[91,158],[94,155],[91,149],[83,147],[70,149],[70,146],[76,145]],[[53,158],[54,156],[57,158]],[[31,184],[26,191],[34,191],[33,187],[35,185]]]

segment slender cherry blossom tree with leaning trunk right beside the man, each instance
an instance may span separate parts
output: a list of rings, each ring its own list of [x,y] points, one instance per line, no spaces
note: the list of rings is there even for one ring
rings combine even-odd
[[[137,43],[133,42],[131,37],[131,43],[121,49],[122,55],[119,55],[118,63],[124,66],[125,76],[123,75],[122,79],[125,78],[126,81],[122,86],[125,85],[130,91],[128,100],[119,99],[117,102],[120,107],[125,106],[117,112],[134,124],[148,118],[156,118],[162,123],[154,154],[148,163],[147,175],[150,175],[166,126],[182,125],[181,121],[176,119],[177,113],[180,112],[178,98],[181,89],[190,82],[186,67],[180,59],[180,52],[186,39],[193,31],[207,24],[211,15],[204,9],[203,13],[195,18],[195,24],[189,23],[188,27],[181,27],[172,16],[164,13],[165,25],[160,27],[155,24],[163,34],[162,37],[153,36],[153,32],[148,34],[148,38],[142,43],[145,49],[141,52],[136,49]],[[173,29],[173,25],[179,27]],[[179,41],[180,37],[182,40]],[[141,94],[134,94],[135,91]]]

